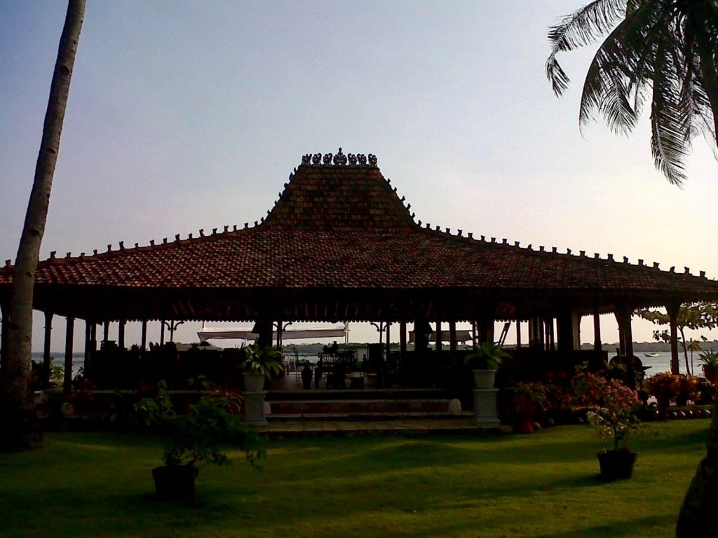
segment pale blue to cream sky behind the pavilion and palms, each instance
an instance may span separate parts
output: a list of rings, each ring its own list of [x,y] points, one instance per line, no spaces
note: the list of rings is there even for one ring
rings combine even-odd
[[[579,131],[595,47],[559,56],[572,84],[552,92],[546,33],[581,5],[90,0],[40,259],[243,226],[302,155],[341,147],[376,154],[432,226],[718,278],[707,143],[696,141],[679,189],[653,166],[648,115],[628,138],[603,123]],[[17,253],[65,9],[0,0],[0,263]],[[62,318],[53,326],[59,350]],[[612,316],[602,326],[616,341]],[[634,339],[653,329],[634,321]],[[159,339],[159,324],[149,331]],[[351,339],[377,333],[355,326]],[[42,316],[33,341],[41,350]]]

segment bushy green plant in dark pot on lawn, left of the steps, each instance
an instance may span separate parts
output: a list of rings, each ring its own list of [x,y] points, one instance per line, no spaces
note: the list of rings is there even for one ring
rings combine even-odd
[[[195,478],[202,463],[228,466],[232,462],[225,445],[241,450],[249,463],[264,458],[256,429],[242,422],[241,396],[213,390],[190,406],[187,415],[169,421],[169,442],[164,466],[152,469],[157,496],[161,499],[193,499]]]

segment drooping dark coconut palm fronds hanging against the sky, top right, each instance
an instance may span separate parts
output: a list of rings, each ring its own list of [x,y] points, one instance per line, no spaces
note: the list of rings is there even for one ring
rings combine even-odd
[[[579,127],[600,115],[614,133],[629,133],[650,102],[653,159],[669,182],[686,178],[684,161],[700,133],[718,159],[718,1],[596,0],[574,11],[549,29],[546,75],[556,95],[569,83],[556,55],[602,35]]]

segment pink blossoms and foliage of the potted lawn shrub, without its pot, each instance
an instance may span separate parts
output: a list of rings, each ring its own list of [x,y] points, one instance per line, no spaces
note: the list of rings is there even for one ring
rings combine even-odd
[[[574,377],[573,387],[574,403],[593,407],[588,420],[600,438],[613,438],[613,450],[621,448],[628,434],[638,429],[638,393],[617,379],[607,380],[581,370]]]

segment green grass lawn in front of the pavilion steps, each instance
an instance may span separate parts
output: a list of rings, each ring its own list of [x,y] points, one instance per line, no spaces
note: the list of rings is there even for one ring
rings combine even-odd
[[[0,454],[2,537],[673,537],[708,420],[645,425],[628,481],[592,430],[275,440],[264,470],[205,467],[200,506],[154,499],[157,438],[50,433]]]

